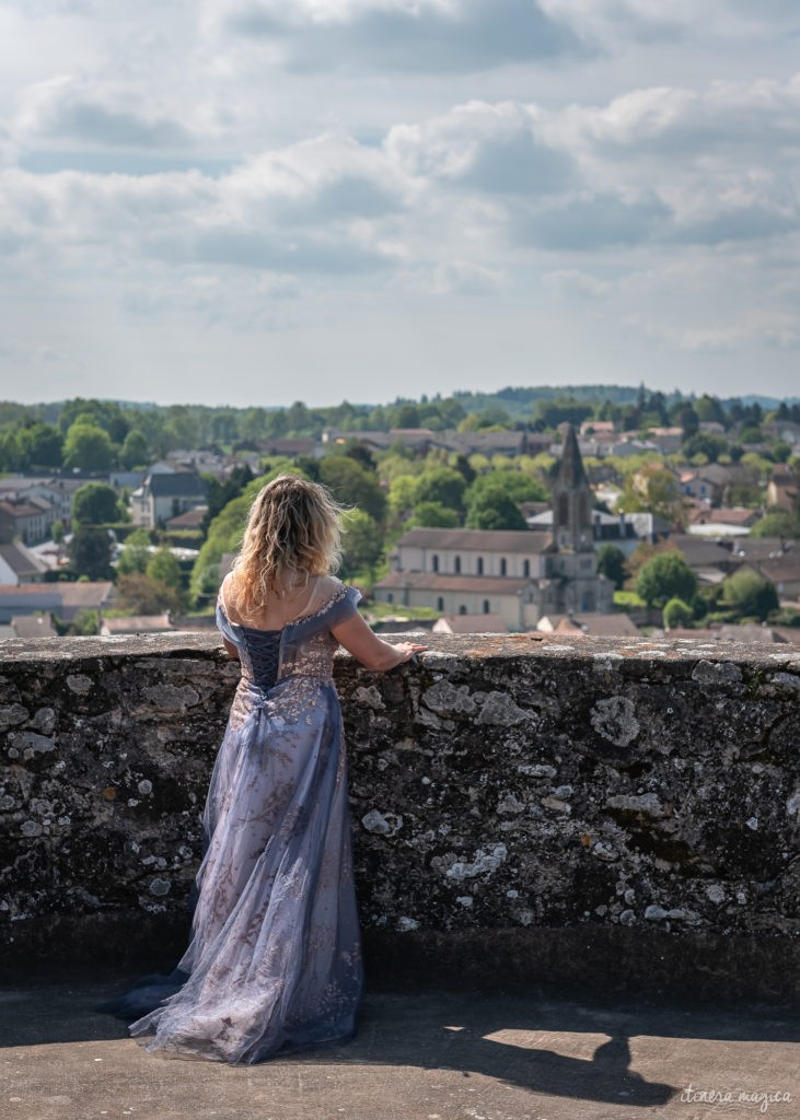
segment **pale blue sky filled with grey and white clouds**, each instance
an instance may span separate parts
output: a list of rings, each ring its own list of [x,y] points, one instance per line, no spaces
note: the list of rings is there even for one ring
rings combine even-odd
[[[0,399],[800,393],[794,0],[3,0]]]

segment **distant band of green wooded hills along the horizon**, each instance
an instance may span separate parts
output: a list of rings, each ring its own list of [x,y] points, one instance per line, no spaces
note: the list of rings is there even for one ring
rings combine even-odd
[[[689,438],[699,435],[704,421],[715,421],[726,432],[737,429],[744,444],[757,441],[764,419],[800,423],[798,401],[781,401],[765,411],[757,401],[664,394],[643,385],[597,386],[595,400],[586,392],[586,386],[560,393],[547,386],[505,389],[493,394],[422,395],[417,401],[398,398],[379,405],[343,401],[327,408],[309,408],[301,401],[288,408],[242,409],[83,398],[49,404],[0,402],[0,473],[133,470],[178,449],[258,451],[264,440],[319,439],[326,428],[356,433],[396,428],[555,431],[565,421],[596,420],[611,421],[621,432],[679,426]]]

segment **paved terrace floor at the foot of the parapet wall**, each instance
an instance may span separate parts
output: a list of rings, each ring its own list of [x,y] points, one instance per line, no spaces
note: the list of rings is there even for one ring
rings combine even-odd
[[[119,977],[7,979],[2,1120],[800,1117],[800,1021],[785,1008],[384,987],[352,1043],[231,1067],[143,1052],[93,1009]]]

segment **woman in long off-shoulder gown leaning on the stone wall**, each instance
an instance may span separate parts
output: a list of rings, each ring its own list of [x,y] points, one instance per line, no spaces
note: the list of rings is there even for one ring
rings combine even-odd
[[[339,513],[323,487],[276,478],[220,590],[242,678],[204,813],[192,940],[169,978],[178,990],[165,999],[150,984],[128,1002],[155,1007],[130,1027],[149,1051],[252,1063],[355,1030],[363,973],[333,654],[341,644],[387,670],[425,646],[379,638],[359,591],[333,576]]]

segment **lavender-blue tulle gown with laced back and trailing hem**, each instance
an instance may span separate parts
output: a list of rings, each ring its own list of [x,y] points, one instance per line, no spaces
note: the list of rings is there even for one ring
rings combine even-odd
[[[129,1028],[148,1051],[252,1063],[355,1030],[363,972],[331,627],[359,598],[339,584],[281,631],[239,626],[217,604],[242,679],[205,808],[192,940],[165,978],[178,990],[140,989],[139,1012],[155,1010]]]

